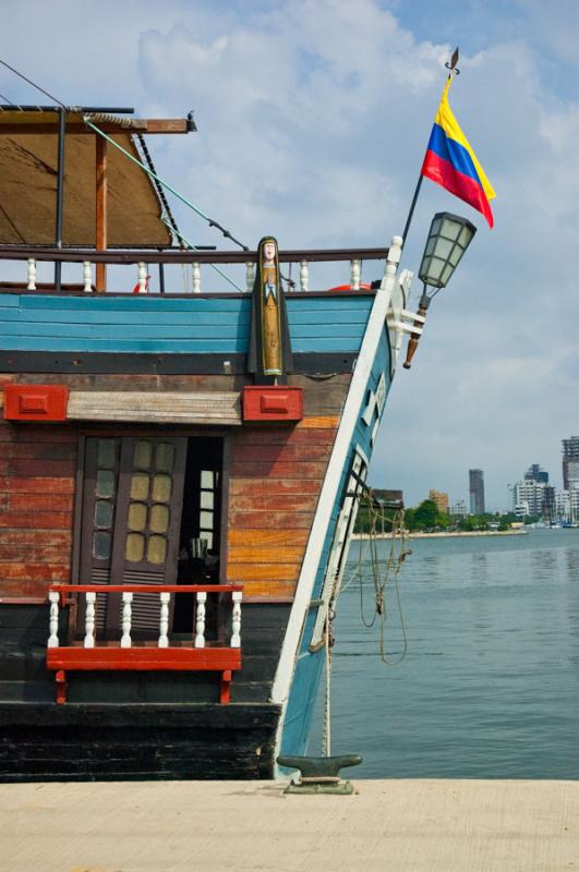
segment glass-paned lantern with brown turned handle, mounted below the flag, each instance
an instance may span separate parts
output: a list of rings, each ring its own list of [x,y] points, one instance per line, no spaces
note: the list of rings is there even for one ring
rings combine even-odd
[[[419,278],[424,284],[417,313],[421,320],[414,322],[414,327],[422,327],[424,324],[423,318],[426,317],[431,300],[450,280],[475,232],[477,228],[467,218],[449,211],[438,211],[432,219],[419,269]],[[426,293],[427,287],[435,289],[430,296]],[[412,335],[408,342],[405,370],[410,370],[418,342],[419,336]]]

